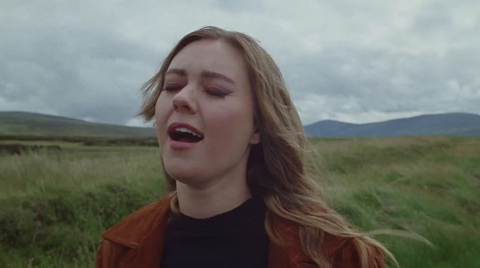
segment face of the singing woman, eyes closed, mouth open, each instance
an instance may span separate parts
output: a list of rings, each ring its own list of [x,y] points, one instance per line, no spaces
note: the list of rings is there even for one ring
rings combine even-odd
[[[253,124],[245,61],[219,40],[199,40],[168,66],[155,107],[164,167],[177,181],[201,186],[246,169]]]

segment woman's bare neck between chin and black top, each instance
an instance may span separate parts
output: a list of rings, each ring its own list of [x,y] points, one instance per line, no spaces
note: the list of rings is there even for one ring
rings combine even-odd
[[[196,219],[206,219],[240,206],[252,195],[246,174],[226,176],[204,187],[193,187],[177,181],[180,212]]]

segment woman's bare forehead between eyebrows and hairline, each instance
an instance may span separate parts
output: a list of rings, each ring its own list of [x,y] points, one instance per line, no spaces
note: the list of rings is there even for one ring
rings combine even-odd
[[[187,75],[211,71],[234,80],[248,80],[241,52],[221,40],[204,39],[188,44],[173,58],[168,66],[172,68],[184,69]]]

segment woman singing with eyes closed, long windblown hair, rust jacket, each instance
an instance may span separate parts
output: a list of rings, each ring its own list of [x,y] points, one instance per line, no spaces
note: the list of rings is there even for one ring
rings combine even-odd
[[[168,197],[103,234],[96,267],[381,268],[378,242],[316,194],[280,70],[245,34],[204,27],[144,85]]]

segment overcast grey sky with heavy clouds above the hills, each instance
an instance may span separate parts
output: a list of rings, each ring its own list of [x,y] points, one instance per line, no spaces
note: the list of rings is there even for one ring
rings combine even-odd
[[[139,88],[207,25],[260,40],[304,124],[480,114],[478,0],[0,0],[0,110],[142,125]]]

